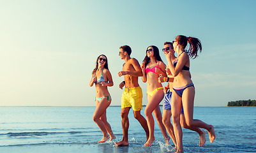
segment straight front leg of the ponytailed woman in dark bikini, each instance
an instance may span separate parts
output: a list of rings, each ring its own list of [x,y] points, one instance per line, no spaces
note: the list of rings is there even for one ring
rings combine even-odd
[[[183,152],[183,142],[182,142],[182,129],[180,124],[180,114],[181,114],[181,97],[177,95],[176,92],[172,92],[172,123],[174,126],[174,135],[177,143],[177,152]]]

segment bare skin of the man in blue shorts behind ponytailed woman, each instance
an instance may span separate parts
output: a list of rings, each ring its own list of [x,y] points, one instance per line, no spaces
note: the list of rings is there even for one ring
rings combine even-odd
[[[166,44],[163,46],[163,48],[167,48],[169,47],[169,50],[165,50],[164,54],[169,54],[170,50],[172,49],[172,46],[170,44]],[[172,51],[172,53],[174,53]],[[172,61],[175,61],[176,57],[175,55],[172,55]],[[168,65],[167,65],[167,71],[170,71]],[[169,84],[167,85],[167,87],[165,87],[165,89],[163,90],[163,92],[165,92],[165,94],[167,93],[167,90],[169,89],[172,93],[174,92],[172,89],[172,82],[174,81],[174,77],[172,75],[169,75]],[[163,79],[164,77],[159,77],[158,78],[158,82],[165,82],[165,80],[167,80],[167,78]],[[191,78],[191,75],[190,75]],[[165,125],[165,128],[167,129],[167,132],[169,133],[170,137],[172,138],[172,141],[174,142],[175,148],[177,149],[177,143],[176,143],[176,138],[174,135],[174,128],[170,122],[170,117],[172,116],[172,112],[171,110],[163,110],[163,124]],[[180,114],[180,123],[181,126],[185,129],[190,129],[192,131],[196,131],[197,133],[199,133],[199,137],[200,137],[200,142],[199,142],[199,147],[201,147],[202,145],[204,145],[204,143],[206,142],[206,132],[201,130],[200,128],[192,128],[189,127],[186,124],[185,118],[184,118],[184,114],[181,113]]]

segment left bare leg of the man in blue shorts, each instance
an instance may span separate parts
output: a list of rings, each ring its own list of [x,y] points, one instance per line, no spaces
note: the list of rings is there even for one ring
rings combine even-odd
[[[175,148],[177,149],[176,138],[174,135],[174,128],[172,126],[172,123],[170,122],[170,117],[172,117],[172,111],[163,110],[163,124],[165,125],[165,128],[169,133],[170,138],[172,138],[172,142],[174,142]]]

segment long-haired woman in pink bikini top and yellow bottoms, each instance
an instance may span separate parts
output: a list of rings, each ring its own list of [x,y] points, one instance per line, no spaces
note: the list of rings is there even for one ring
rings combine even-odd
[[[159,103],[162,101],[163,96],[163,86],[158,82],[158,77],[160,75],[167,77],[165,73],[165,64],[163,63],[159,50],[155,46],[147,47],[146,57],[141,64],[142,68],[142,81],[147,82],[147,106],[145,108],[145,115],[147,118],[147,126],[149,127],[149,138],[144,144],[145,146],[151,146],[154,142],[154,117],[158,122],[165,142],[169,144],[170,137],[167,135],[165,126],[162,122],[162,113],[160,110]]]

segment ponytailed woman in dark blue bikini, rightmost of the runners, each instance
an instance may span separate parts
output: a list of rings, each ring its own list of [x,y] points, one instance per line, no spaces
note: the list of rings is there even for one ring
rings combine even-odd
[[[190,45],[188,50],[185,50],[186,45]],[[215,129],[213,126],[202,122],[202,120],[193,119],[193,105],[195,98],[195,87],[190,77],[190,58],[195,59],[197,52],[202,51],[202,45],[197,38],[186,37],[179,35],[175,41],[172,41],[174,51],[177,52],[177,58],[172,57],[174,52],[165,54],[168,61],[169,71],[167,75],[174,76],[172,92],[172,122],[174,126],[174,135],[176,137],[177,152],[183,152],[182,129],[180,124],[180,113],[183,106],[184,118],[186,124],[194,128],[207,129],[210,142],[215,140]],[[174,59],[174,61],[172,61]],[[173,64],[172,64],[173,63]]]

